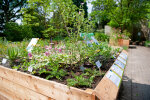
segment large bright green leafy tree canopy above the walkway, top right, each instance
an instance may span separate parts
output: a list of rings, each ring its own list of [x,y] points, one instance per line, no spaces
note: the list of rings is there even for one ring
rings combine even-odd
[[[123,30],[132,28],[141,19],[146,18],[148,0],[96,0],[100,18],[104,15],[110,20],[109,25]],[[96,13],[94,14],[96,15]]]

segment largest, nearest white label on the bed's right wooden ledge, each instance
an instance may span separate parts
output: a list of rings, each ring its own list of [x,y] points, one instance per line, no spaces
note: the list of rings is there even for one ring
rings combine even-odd
[[[110,79],[117,87],[119,87],[121,78],[117,76],[113,71],[109,70],[109,72],[106,74],[106,77]]]

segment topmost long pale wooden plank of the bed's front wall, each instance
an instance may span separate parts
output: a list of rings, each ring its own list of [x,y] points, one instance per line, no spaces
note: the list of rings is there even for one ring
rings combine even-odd
[[[91,100],[91,94],[66,85],[0,66],[0,77],[56,100]]]

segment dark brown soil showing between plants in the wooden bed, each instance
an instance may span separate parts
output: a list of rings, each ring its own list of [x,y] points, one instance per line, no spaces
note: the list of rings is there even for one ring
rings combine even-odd
[[[3,58],[0,58],[0,61],[2,61],[2,59]],[[102,72],[104,72],[104,73],[106,73],[108,70],[109,70],[109,68],[112,66],[112,64],[114,63],[114,60],[115,59],[109,59],[109,60],[107,60],[107,62],[103,62],[103,65],[102,65],[102,67],[101,67],[101,71]],[[7,68],[11,68],[11,66],[10,66],[10,62],[9,61],[7,61],[6,62],[6,64],[2,64],[3,66],[5,66],[5,67],[7,67]],[[19,60],[17,60],[16,61],[16,63],[15,63],[15,65],[19,65]],[[63,66],[64,66],[64,64],[62,64]],[[96,66],[93,66],[92,64],[90,64],[90,63],[88,63],[88,62],[85,62],[84,63],[84,65],[83,65],[85,68],[91,68],[91,69],[95,69],[95,67]],[[71,71],[73,71],[76,75],[81,75],[83,72],[80,70],[80,68],[79,68],[79,66],[78,67],[74,67],[74,69],[72,69],[72,67],[67,67],[67,68],[65,68],[65,70],[66,70],[66,72],[68,72],[68,74],[62,79],[62,80],[57,80],[56,78],[52,78],[52,79],[50,79],[51,81],[56,81],[56,82],[58,82],[58,83],[62,83],[62,84],[65,84],[65,85],[67,85],[67,79],[68,78],[73,78],[73,76],[72,76],[72,72]],[[98,70],[98,69],[97,69]],[[25,72],[25,73],[28,73],[28,74],[30,74],[30,72],[28,72],[28,71],[24,71],[23,69],[19,69],[19,71],[21,71],[21,72]],[[42,78],[46,78],[46,74],[41,74],[41,75],[39,75],[39,74],[34,74],[35,76],[38,76],[38,77],[42,77]],[[89,78],[89,77],[85,77],[85,78]],[[86,86],[80,86],[80,87],[77,87],[77,88],[80,88],[80,89],[83,89],[83,90],[85,90],[85,89],[87,89],[87,88],[92,88],[92,89],[94,89],[97,85],[98,85],[98,83],[100,82],[100,80],[103,78],[103,76],[97,76],[97,77],[95,77],[95,79],[94,79],[94,81],[93,81],[93,83],[92,83],[92,85],[91,85],[91,87],[86,87]]]

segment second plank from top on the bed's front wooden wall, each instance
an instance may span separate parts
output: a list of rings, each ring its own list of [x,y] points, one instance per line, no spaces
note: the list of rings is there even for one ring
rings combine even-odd
[[[12,99],[15,100],[17,98],[17,100],[21,100],[21,99],[27,99],[27,100],[50,100],[48,97],[41,95],[39,93],[36,93],[28,88],[25,88],[21,85],[18,85],[16,83],[13,83],[7,79],[4,79],[2,77],[0,77],[0,88],[1,90],[7,90],[6,95],[8,97],[12,97]],[[10,95],[11,94],[11,95]]]

